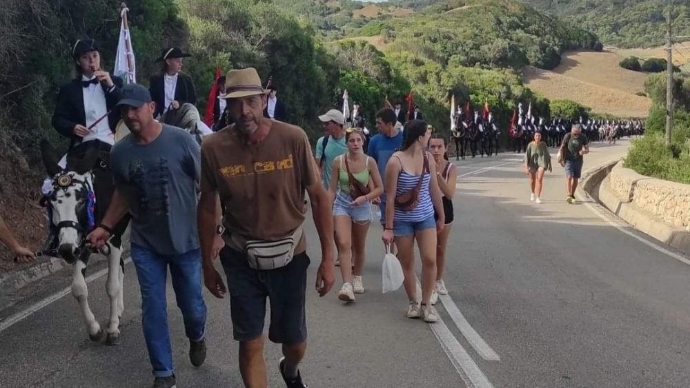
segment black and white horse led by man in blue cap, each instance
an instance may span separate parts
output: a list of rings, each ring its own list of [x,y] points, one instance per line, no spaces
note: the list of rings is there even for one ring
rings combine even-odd
[[[67,167],[62,168],[52,145],[46,140],[41,141],[43,164],[52,184],[41,203],[48,207],[50,221],[57,229],[51,247],[59,257],[74,265],[72,296],[79,303],[88,336],[95,342],[103,338],[103,329],[88,305],[86,266],[93,252],[86,244],[86,235],[105,215],[114,192],[109,152],[110,145],[101,141],[81,143],[68,152]],[[110,241],[100,252],[108,258],[106,292],[110,298],[110,318],[105,330],[106,345],[119,343],[119,323],[124,311],[121,237],[128,222],[129,217],[126,216],[112,228]]]

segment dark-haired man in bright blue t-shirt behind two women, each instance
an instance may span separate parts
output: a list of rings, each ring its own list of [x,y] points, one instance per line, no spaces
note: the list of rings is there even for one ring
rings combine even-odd
[[[397,123],[397,117],[392,109],[383,108],[376,112],[376,130],[378,133],[369,141],[369,147],[366,152],[376,162],[382,178],[386,176],[386,165],[391,156],[393,156],[393,152],[402,146],[403,133],[396,126]],[[380,198],[376,200],[379,202],[382,226],[386,225],[386,192],[386,184],[384,183],[384,194],[381,194]],[[393,194],[394,197],[395,194]],[[395,243],[391,243],[391,252],[395,253]]]

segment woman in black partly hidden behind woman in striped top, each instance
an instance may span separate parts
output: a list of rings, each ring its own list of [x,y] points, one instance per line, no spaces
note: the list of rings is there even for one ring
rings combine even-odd
[[[436,293],[439,295],[448,295],[446,283],[443,280],[444,269],[446,268],[446,247],[448,246],[448,238],[451,235],[451,227],[453,226],[453,195],[455,195],[455,183],[457,181],[457,167],[448,161],[448,144],[446,137],[442,134],[433,134],[429,140],[429,150],[433,161],[436,165],[436,181],[438,188],[441,190],[444,212],[444,227],[438,234],[438,243],[436,245]],[[438,213],[434,212],[434,219],[438,222]]]

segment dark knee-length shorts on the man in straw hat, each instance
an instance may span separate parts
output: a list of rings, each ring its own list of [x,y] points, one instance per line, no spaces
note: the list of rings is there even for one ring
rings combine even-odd
[[[230,247],[220,252],[228,277],[233,337],[253,340],[264,334],[266,297],[270,303],[268,339],[273,343],[297,345],[306,341],[306,252],[297,254],[285,267],[259,271],[249,267],[244,254]]]

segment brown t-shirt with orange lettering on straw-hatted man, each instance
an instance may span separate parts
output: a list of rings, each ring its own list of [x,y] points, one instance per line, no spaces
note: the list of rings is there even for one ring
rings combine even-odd
[[[274,241],[302,225],[304,190],[315,174],[306,133],[295,125],[273,121],[258,144],[230,125],[201,145],[201,191],[219,192],[224,226],[245,238]],[[302,238],[295,254],[305,249]]]

